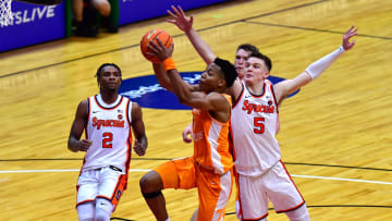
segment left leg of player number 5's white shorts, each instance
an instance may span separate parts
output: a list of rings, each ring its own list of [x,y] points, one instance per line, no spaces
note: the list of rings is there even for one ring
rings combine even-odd
[[[268,196],[262,175],[247,176],[237,174],[240,216],[242,220],[267,220]]]

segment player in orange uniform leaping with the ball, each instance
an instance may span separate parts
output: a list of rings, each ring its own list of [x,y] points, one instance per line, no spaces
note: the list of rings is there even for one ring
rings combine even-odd
[[[159,39],[158,39],[159,40]],[[168,161],[140,179],[142,194],[158,221],[170,220],[164,188],[197,187],[199,221],[221,221],[229,201],[233,175],[233,159],[229,147],[231,98],[222,94],[237,74],[226,60],[216,58],[201,74],[199,90],[182,81],[171,58],[173,45],[167,49],[151,42],[162,63],[154,63],[158,77],[166,77],[161,86],[173,91],[180,102],[193,108],[194,156]]]

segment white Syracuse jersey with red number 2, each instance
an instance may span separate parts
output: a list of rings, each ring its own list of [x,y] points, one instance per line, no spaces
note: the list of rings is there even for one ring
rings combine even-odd
[[[111,105],[105,103],[100,95],[87,100],[86,138],[93,145],[86,152],[83,170],[112,165],[127,173],[132,154],[132,101],[120,95]]]

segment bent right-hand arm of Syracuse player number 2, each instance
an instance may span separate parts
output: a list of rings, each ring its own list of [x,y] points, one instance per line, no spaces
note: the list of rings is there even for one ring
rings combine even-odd
[[[135,135],[134,150],[138,156],[144,156],[148,146],[146,130],[143,121],[142,108],[132,102],[132,131]]]

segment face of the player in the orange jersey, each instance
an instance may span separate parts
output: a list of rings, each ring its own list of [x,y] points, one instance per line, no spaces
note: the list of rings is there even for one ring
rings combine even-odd
[[[199,88],[201,91],[210,93],[218,89],[224,79],[221,78],[220,67],[211,63],[207,66],[207,70],[201,74],[199,82]]]

